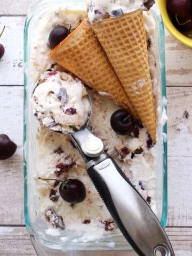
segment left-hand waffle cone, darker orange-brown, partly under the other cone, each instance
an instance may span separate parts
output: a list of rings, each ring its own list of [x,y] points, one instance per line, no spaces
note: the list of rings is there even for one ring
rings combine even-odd
[[[139,119],[89,22],[83,20],[51,51],[50,57],[95,91],[110,95],[109,98],[119,106],[125,108],[127,105],[135,118]]]

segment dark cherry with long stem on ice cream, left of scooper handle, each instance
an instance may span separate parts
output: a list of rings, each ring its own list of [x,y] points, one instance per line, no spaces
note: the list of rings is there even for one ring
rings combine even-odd
[[[57,179],[44,179],[39,177],[41,180],[55,180],[60,181],[61,185],[59,187],[59,194],[63,198],[63,200],[77,204],[84,201],[86,197],[85,186],[82,181],[77,179],[69,179],[69,180],[57,180]]]

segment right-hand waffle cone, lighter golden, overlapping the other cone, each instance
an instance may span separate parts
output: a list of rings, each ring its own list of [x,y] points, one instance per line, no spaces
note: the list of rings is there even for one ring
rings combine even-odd
[[[103,50],[141,122],[156,142],[156,117],[149,71],[147,39],[140,10],[93,25]]]

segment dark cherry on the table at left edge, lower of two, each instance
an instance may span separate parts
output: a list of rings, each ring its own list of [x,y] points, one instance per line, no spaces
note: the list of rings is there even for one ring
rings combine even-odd
[[[0,160],[10,158],[16,149],[17,145],[6,134],[0,134]]]

